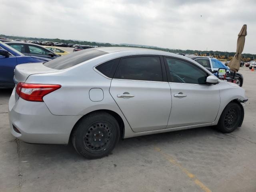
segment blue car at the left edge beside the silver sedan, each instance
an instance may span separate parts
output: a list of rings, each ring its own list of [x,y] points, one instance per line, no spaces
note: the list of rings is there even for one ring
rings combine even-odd
[[[47,62],[50,59],[25,56],[14,48],[0,41],[0,88],[13,88],[14,68],[18,64]]]

